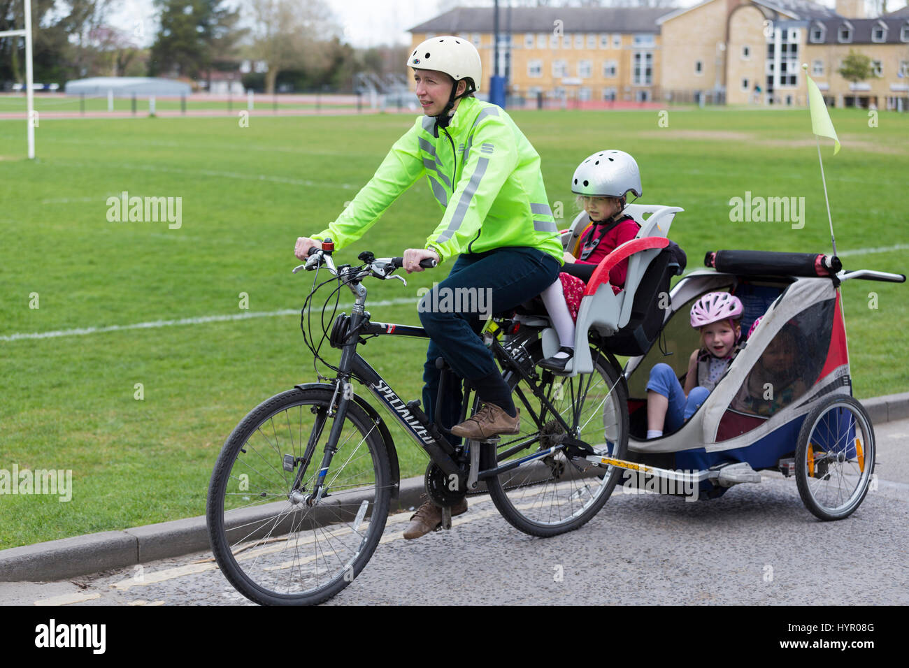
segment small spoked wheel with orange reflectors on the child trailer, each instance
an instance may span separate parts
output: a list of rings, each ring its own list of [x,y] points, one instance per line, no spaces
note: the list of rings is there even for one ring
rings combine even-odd
[[[821,520],[842,520],[868,493],[874,474],[874,429],[862,404],[829,396],[804,419],[795,450],[795,482],[805,507]]]

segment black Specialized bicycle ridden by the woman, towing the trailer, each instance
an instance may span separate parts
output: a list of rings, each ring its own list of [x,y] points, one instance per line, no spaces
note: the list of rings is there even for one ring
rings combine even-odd
[[[323,341],[318,347],[306,341],[335,379],[295,385],[256,406],[228,436],[209,485],[212,551],[237,591],[263,604],[322,603],[353,582],[375,552],[400,472],[387,425],[355,394],[354,380],[429,455],[425,489],[444,509],[443,528],[451,526],[450,506],[484,487],[509,523],[537,536],[574,530],[602,508],[620,474],[604,458],[624,457],[628,443],[627,389],[611,354],[592,347],[592,374],[537,371],[547,321],[494,316],[484,341],[522,409],[521,433],[458,444],[430,423],[418,400],[405,403],[357,353],[376,336],[427,338],[422,327],[374,322],[365,310],[366,278],[406,284],[394,275],[401,258],[366,252],[359,255],[362,265],[335,266],[332,244],[326,240],[323,248],[294,272],[316,271],[304,316],[324,284],[336,282],[333,294],[345,285],[355,294],[351,314],[337,315],[330,332],[323,308],[323,341],[342,351],[337,366],[319,355]],[[333,278],[316,285],[323,266]],[[439,364],[441,403],[445,375],[453,372],[441,358]],[[471,395],[465,384],[462,420],[477,407]]]

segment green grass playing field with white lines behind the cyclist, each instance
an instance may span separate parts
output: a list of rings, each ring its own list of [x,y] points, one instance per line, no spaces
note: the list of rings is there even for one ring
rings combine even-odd
[[[844,263],[904,273],[909,116],[882,113],[877,127],[862,111],[832,117],[844,147],[834,157],[824,142],[824,167]],[[644,202],[684,207],[671,236],[689,268],[717,248],[830,251],[804,110],[672,110],[668,127],[655,111],[514,119],[568,219],[574,167],[614,147],[641,166]],[[212,465],[235,424],[266,397],[315,380],[296,315],[8,337],[300,308],[312,274],[290,273],[295,238],[334,219],[412,122],[267,114],[245,128],[235,118],[42,121],[33,162],[24,158],[25,123],[0,122],[0,469],[71,469],[74,487],[68,503],[0,495],[0,547],[203,514]],[[106,199],[123,191],[182,197],[182,226],[108,222]],[[730,198],[746,191],[804,197],[804,228],[730,222]],[[422,245],[439,216],[418,184],[339,257],[401,254]],[[891,250],[873,250],[884,247]],[[417,323],[417,289],[443,276],[369,284],[371,302],[413,300],[374,307],[374,318]],[[909,390],[907,289],[844,285],[859,397]],[[30,308],[34,293],[38,308]],[[383,339],[364,354],[405,397],[419,395],[425,344]],[[422,473],[414,444],[399,440],[398,453],[402,474]]]

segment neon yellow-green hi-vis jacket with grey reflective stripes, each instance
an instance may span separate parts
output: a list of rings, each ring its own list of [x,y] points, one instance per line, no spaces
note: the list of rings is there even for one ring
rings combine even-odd
[[[425,176],[442,222],[426,238],[445,261],[461,253],[530,246],[562,264],[562,244],[546,199],[540,156],[496,105],[464,97],[447,128],[423,116],[395,142],[375,175],[328,229],[335,248],[359,239],[392,202]]]

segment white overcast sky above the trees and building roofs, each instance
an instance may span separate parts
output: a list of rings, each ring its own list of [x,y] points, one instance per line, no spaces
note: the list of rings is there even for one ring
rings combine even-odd
[[[239,0],[233,0],[236,5]],[[507,5],[508,0],[500,0],[499,6]],[[678,0],[677,6],[695,5],[700,0]],[[833,7],[835,0],[815,0],[821,5]],[[389,43],[407,44],[410,35],[407,28],[413,27],[439,15],[440,5],[492,6],[493,0],[325,0],[325,4],[335,13],[340,25],[345,28],[346,41],[354,46],[376,46]],[[558,2],[554,3],[555,5]],[[888,9],[899,9],[905,3],[891,0]],[[115,0],[117,9],[111,15],[111,23],[116,27],[135,31],[141,25],[145,38],[139,38],[143,45],[150,45],[154,38],[156,21],[152,0]]]

